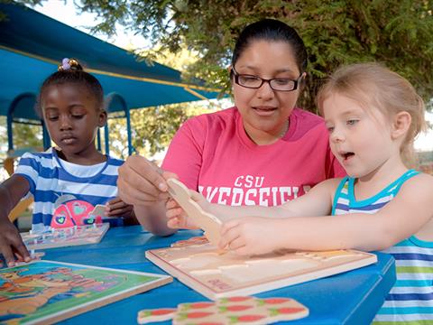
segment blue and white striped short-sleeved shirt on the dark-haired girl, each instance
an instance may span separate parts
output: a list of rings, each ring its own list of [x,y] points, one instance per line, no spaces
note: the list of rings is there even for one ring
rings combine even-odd
[[[53,148],[44,153],[24,153],[15,174],[29,181],[34,198],[32,228],[39,230],[51,225],[53,212],[62,203],[59,199],[82,202],[82,207],[86,205],[88,209],[114,199],[117,170],[123,163],[110,156],[105,163],[97,165],[68,163],[62,161]],[[75,208],[81,207],[78,204]]]

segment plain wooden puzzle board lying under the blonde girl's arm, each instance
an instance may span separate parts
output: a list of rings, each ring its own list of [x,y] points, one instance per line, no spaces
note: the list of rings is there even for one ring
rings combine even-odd
[[[209,243],[146,251],[165,272],[209,299],[265,292],[339,274],[377,262],[376,255],[355,250],[281,252],[244,257],[221,254]]]

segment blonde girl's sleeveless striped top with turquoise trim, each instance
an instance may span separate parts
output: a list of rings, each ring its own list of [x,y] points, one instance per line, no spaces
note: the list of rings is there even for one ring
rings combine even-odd
[[[356,200],[355,179],[345,177],[337,190],[333,215],[373,214],[391,201],[401,185],[419,172],[410,170],[367,200]],[[374,324],[433,324],[433,242],[411,236],[382,252],[395,258],[397,281],[385,298]]]

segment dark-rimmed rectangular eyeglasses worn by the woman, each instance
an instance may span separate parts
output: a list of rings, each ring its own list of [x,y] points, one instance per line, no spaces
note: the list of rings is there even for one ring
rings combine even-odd
[[[244,88],[261,88],[264,82],[269,83],[269,86],[276,91],[293,91],[298,88],[299,80],[302,79],[302,73],[296,80],[286,78],[263,79],[257,76],[248,74],[239,74],[232,67],[233,74],[235,75],[235,83]]]

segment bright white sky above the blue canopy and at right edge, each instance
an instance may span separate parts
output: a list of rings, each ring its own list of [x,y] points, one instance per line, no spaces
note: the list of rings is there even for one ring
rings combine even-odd
[[[73,2],[70,0],[49,0],[43,2],[42,5],[37,5],[33,9],[41,14],[46,14],[61,23],[69,24],[69,26],[77,28],[82,32],[88,32],[89,28],[87,27],[94,26],[97,21],[96,14],[78,14]],[[134,35],[132,32],[125,31],[122,26],[117,26],[117,35],[112,39],[108,39],[106,35],[103,34],[97,34],[94,36],[124,49],[148,48],[150,46],[150,42],[146,42],[146,40],[143,39],[143,36]],[[427,113],[426,119],[431,125],[433,125],[433,113]],[[429,130],[428,134],[419,135],[418,139],[415,141],[415,149],[420,151],[433,151],[432,129]]]

